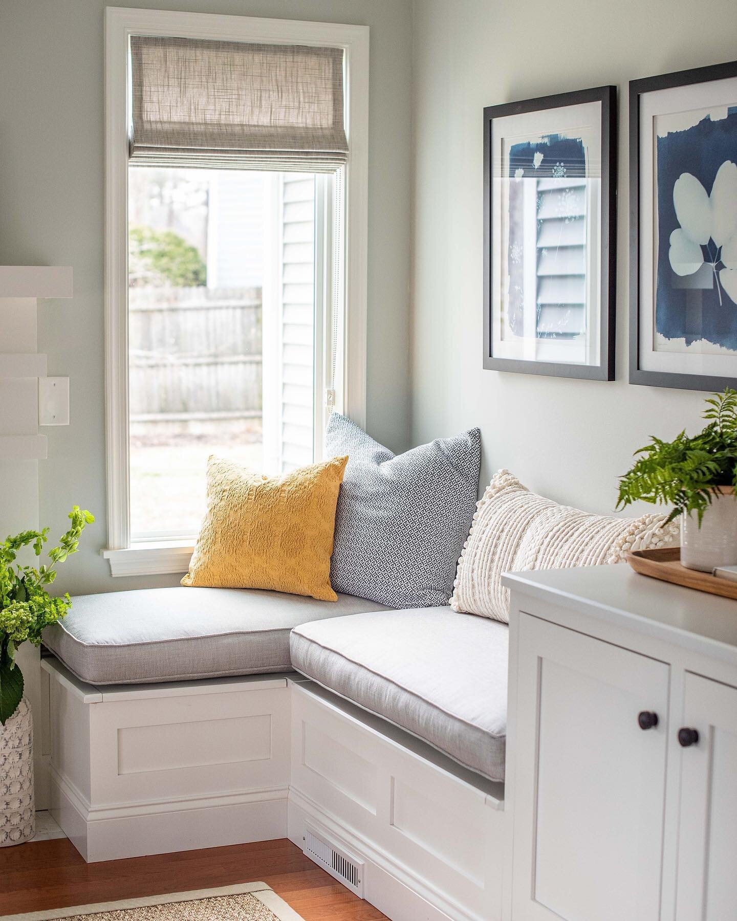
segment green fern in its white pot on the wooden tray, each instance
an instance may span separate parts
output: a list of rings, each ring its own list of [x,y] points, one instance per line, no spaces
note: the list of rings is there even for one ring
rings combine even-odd
[[[619,481],[617,508],[642,499],[673,506],[681,519],[681,563],[711,572],[737,565],[737,391],[727,388],[707,400],[708,425],[673,441],[652,437]]]

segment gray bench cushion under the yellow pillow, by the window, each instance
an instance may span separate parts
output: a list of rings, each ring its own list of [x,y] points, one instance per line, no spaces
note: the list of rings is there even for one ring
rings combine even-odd
[[[92,684],[171,682],[289,671],[298,624],[376,611],[376,601],[317,601],[256,589],[138,589],[80,595],[43,642]]]

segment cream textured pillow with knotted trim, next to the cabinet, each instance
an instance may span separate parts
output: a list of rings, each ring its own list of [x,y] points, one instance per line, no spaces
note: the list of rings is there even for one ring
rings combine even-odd
[[[623,563],[632,550],[651,550],[676,539],[678,525],[665,519],[608,518],[559,506],[500,470],[476,505],[450,607],[509,624],[504,573]]]

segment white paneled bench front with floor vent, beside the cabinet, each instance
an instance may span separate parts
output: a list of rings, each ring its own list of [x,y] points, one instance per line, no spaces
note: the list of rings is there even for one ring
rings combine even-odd
[[[290,685],[290,839],[304,848],[308,826],[361,855],[365,897],[390,917],[499,918],[503,785],[313,682]]]

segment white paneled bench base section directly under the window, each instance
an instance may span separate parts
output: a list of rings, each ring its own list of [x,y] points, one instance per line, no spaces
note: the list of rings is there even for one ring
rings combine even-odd
[[[89,862],[283,837],[284,676],[95,687],[57,659],[52,813]]]

